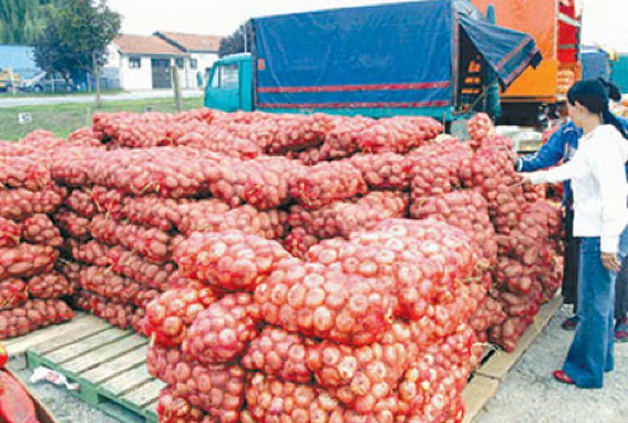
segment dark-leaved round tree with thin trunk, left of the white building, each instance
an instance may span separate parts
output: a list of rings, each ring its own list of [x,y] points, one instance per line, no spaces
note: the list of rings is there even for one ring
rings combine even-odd
[[[120,33],[122,17],[106,0],[62,0],[50,16],[43,35],[35,43],[42,69],[52,72],[91,72],[95,79],[96,107],[100,108],[100,69],[107,62],[107,46]],[[57,40],[57,45],[51,43]],[[44,52],[52,48],[55,52]],[[45,60],[51,57],[53,60]],[[43,65],[47,65],[44,67]],[[72,72],[72,71],[70,71]]]

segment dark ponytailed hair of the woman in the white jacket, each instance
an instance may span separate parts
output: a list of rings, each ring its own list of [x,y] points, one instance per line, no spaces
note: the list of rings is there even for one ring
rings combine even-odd
[[[617,89],[617,91],[619,91],[619,89]],[[577,82],[567,92],[567,101],[569,101],[571,106],[575,106],[576,102],[579,102],[590,113],[601,114],[604,123],[615,126],[617,131],[628,140],[628,131],[624,128],[624,125],[622,125],[617,116],[609,111],[609,91],[607,91],[605,83],[596,79]]]

